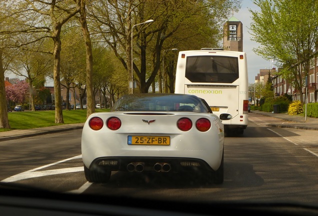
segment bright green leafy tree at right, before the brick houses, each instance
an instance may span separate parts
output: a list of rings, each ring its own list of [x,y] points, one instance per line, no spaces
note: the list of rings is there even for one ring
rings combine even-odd
[[[303,79],[308,74],[318,39],[318,2],[315,0],[254,0],[260,10],[252,14],[252,40],[261,45],[255,53],[275,59],[280,74],[292,75],[303,103]],[[304,72],[302,72],[304,71]]]

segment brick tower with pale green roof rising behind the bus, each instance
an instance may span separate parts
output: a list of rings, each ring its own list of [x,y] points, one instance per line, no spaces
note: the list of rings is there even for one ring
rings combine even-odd
[[[223,25],[224,50],[243,51],[243,26],[234,16]]]

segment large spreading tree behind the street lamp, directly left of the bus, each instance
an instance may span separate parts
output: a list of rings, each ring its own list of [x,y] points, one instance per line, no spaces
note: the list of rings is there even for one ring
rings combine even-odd
[[[100,38],[113,49],[126,68],[128,77],[131,74],[130,62],[133,57],[132,67],[139,90],[148,92],[160,68],[161,51],[162,47],[165,47],[164,42],[167,38],[175,33],[181,38],[178,41],[169,41],[167,45],[177,44],[186,38],[194,40],[197,35],[204,35],[210,41],[217,41],[221,34],[210,34],[210,32],[216,32],[215,29],[220,26],[218,21],[225,18],[235,8],[237,2],[235,0],[96,0],[90,8],[90,18],[94,24],[93,29],[98,30]],[[155,21],[151,24],[138,25],[148,19]],[[202,22],[202,19],[205,21]],[[195,33],[188,34],[188,32]],[[131,34],[133,56],[131,56]],[[199,44],[199,41],[196,40],[196,44]]]

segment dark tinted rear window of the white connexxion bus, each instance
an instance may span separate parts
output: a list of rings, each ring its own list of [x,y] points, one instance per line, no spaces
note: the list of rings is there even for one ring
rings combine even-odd
[[[232,83],[238,78],[238,59],[231,56],[188,56],[185,77],[191,82]]]

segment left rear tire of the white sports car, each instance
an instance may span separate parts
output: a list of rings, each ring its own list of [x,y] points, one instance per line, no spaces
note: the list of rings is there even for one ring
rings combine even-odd
[[[84,165],[84,173],[86,180],[89,182],[107,183],[110,178],[111,170],[100,166],[95,166],[92,169],[89,169]]]

